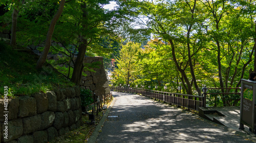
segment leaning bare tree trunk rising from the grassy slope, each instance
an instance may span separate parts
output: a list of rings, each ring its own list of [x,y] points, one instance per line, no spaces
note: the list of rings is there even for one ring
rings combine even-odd
[[[47,55],[48,55],[50,47],[51,47],[52,35],[53,35],[53,32],[54,32],[55,24],[56,24],[56,22],[58,21],[59,17],[62,14],[65,2],[66,2],[66,0],[61,0],[60,1],[59,9],[56,12],[56,14],[54,15],[54,17],[52,18],[52,21],[51,21],[51,24],[49,26],[49,30],[48,30],[48,33],[47,33],[47,37],[46,37],[46,45],[45,45],[45,48],[42,51],[42,53],[41,53],[41,55],[40,55],[40,57],[37,61],[36,69],[42,68],[42,66],[46,62],[46,58],[47,58]]]

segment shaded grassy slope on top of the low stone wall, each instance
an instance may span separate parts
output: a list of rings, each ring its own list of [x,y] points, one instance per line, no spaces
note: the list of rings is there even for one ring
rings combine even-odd
[[[0,42],[0,85],[8,86],[9,97],[31,95],[58,88],[74,87],[74,83],[57,72],[51,65],[36,70],[39,56],[24,47],[15,49]],[[0,90],[0,98],[4,89]]]

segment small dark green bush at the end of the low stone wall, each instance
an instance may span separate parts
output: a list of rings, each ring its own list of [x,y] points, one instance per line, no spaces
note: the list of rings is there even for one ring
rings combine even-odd
[[[90,104],[93,103],[92,91],[88,89],[81,89],[80,97],[81,97],[82,107],[89,106]]]

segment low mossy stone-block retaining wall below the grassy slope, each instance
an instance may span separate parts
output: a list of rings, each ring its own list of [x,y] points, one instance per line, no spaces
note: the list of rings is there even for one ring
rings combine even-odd
[[[4,125],[4,100],[0,99],[0,142],[38,143],[82,125],[79,87],[8,99],[8,125]],[[8,139],[4,138],[8,126]]]

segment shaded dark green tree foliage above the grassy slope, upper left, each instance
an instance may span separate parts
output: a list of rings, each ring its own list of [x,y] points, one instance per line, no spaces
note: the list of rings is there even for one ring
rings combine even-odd
[[[18,1],[13,2],[16,3]],[[58,9],[58,4],[59,1],[56,0],[49,2],[41,0],[26,2],[19,11],[17,42],[22,43],[24,46],[44,45],[47,30],[51,19]],[[115,12],[104,10],[102,7],[106,4],[109,4],[108,0],[71,1],[65,4],[52,37],[55,45],[52,45],[50,50],[50,53],[65,55],[65,57],[61,57],[58,63],[66,62],[66,65],[74,65],[74,63],[71,64],[72,59],[81,49],[87,49],[87,55],[104,56],[108,59],[118,54],[120,38],[115,36],[111,26],[115,24],[113,22],[114,19],[112,19]],[[7,7],[10,7],[10,9],[13,8],[12,6],[12,2],[7,3]],[[11,11],[6,12],[0,20],[9,19],[4,22],[10,23],[11,13]],[[9,26],[3,30],[10,29],[11,27]],[[82,42],[83,40],[81,39],[86,39],[84,41],[87,41],[87,44]],[[60,44],[61,46],[58,46]],[[83,48],[78,48],[81,45],[83,45]],[[51,61],[50,63],[58,65],[56,61]],[[73,69],[70,66],[67,68],[56,66],[56,68],[62,74],[71,78]]]

